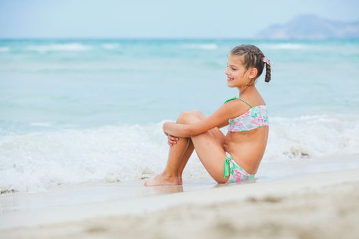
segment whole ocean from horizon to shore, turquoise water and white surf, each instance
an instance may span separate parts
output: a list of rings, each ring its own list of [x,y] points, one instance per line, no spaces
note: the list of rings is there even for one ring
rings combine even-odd
[[[264,162],[359,154],[359,40],[0,40],[0,189],[39,192],[159,173],[162,124],[236,96],[227,56],[271,60]],[[226,128],[222,128],[226,133]],[[194,154],[184,177],[208,174]]]

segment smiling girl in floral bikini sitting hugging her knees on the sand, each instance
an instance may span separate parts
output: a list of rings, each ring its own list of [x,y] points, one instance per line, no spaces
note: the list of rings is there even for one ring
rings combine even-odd
[[[187,111],[177,122],[165,122],[170,152],[164,171],[145,186],[182,184],[182,173],[192,152],[218,183],[254,178],[268,139],[267,105],[255,87],[266,69],[271,80],[271,64],[253,45],[236,46],[228,55],[225,70],[228,87],[236,87],[239,97],[226,100],[215,113],[205,117],[200,111]],[[225,136],[220,128],[227,126]]]

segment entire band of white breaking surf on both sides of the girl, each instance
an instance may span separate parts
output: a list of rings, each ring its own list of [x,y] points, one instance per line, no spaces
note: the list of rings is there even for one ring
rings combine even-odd
[[[31,193],[59,184],[151,177],[163,170],[168,156],[162,123],[22,135],[0,130],[0,189]],[[270,117],[269,124],[263,161],[359,153],[359,115]],[[184,176],[205,175],[192,154]]]

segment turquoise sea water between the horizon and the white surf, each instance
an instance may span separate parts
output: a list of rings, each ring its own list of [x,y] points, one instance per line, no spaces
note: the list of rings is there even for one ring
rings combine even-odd
[[[256,44],[272,81],[258,89],[272,115],[359,112],[359,41],[1,40],[0,128],[143,124],[188,109],[207,115],[226,87],[227,55]]]

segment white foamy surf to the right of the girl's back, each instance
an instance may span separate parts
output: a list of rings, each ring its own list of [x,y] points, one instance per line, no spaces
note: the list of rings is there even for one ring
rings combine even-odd
[[[271,117],[266,160],[319,158],[359,152],[358,115]]]

